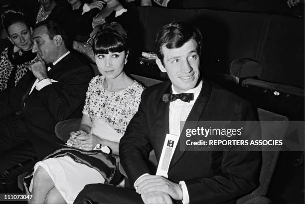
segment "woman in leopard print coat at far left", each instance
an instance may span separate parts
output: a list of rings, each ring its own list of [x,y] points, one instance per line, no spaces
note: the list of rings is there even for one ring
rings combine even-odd
[[[32,27],[26,16],[7,7],[1,20],[12,44],[0,56],[0,91],[15,87],[36,56],[31,51]]]

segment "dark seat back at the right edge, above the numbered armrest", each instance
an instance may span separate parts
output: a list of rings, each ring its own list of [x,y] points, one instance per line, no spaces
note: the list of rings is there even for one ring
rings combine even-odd
[[[260,79],[304,88],[304,19],[271,15],[258,61]]]

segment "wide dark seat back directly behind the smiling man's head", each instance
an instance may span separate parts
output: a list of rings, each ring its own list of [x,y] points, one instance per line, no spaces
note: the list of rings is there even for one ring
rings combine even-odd
[[[257,60],[270,15],[208,9],[139,7],[143,27],[143,51],[156,52],[156,32],[172,21],[185,21],[203,35],[203,68],[206,72],[230,73],[234,59]],[[208,71],[207,71],[208,70]]]

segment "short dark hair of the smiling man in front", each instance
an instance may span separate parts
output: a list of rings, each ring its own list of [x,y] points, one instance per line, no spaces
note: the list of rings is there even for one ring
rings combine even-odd
[[[190,39],[197,42],[197,52],[200,56],[202,34],[200,30],[185,22],[171,22],[164,25],[157,33],[155,43],[158,49],[157,56],[163,63],[162,46],[168,49],[179,48]]]

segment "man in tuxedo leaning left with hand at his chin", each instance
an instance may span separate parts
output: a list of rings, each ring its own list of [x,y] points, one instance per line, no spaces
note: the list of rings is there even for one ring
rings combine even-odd
[[[54,127],[81,117],[93,77],[92,69],[68,50],[59,24],[36,24],[32,40],[37,60],[15,88],[0,93],[1,179],[11,176],[7,170],[13,166],[58,149]]]

